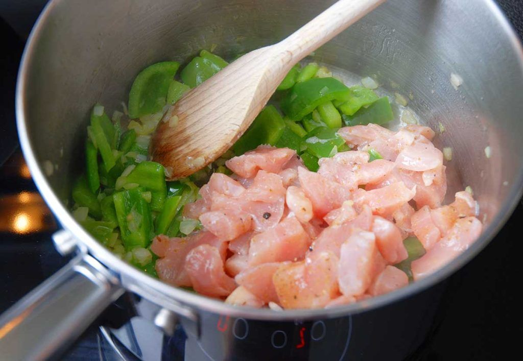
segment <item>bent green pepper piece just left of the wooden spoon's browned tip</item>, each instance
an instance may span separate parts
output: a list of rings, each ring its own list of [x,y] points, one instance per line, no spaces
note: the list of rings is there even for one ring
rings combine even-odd
[[[126,183],[136,183],[151,191],[151,210],[162,210],[167,194],[163,165],[150,161],[141,162],[126,177]]]

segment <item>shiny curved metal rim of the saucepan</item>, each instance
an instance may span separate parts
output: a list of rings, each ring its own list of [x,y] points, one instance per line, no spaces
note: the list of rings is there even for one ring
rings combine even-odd
[[[144,288],[141,296],[147,297],[145,288],[152,288],[155,291],[161,292],[167,299],[182,303],[195,311],[201,309],[218,314],[227,314],[233,317],[244,317],[248,319],[257,320],[305,320],[305,319],[320,319],[320,318],[334,318],[350,314],[365,312],[385,304],[399,301],[405,297],[411,296],[420,292],[430,286],[435,285],[439,281],[444,280],[450,274],[456,272],[464,264],[469,262],[477,253],[479,253],[490,242],[497,232],[503,227],[506,220],[509,218],[514,208],[516,207],[523,189],[523,162],[519,166],[517,177],[512,182],[509,188],[509,196],[505,203],[500,207],[494,219],[483,231],[480,238],[463,254],[455,258],[451,263],[439,269],[434,274],[416,281],[407,287],[401,288],[378,297],[373,297],[357,303],[346,306],[339,306],[329,309],[306,309],[306,310],[284,310],[274,311],[271,309],[254,309],[247,307],[237,307],[226,304],[222,301],[211,299],[205,296],[197,295],[192,292],[170,286],[163,283],[159,279],[155,279],[141,270],[134,268],[130,264],[120,260],[116,255],[107,250],[101,243],[96,241],[89,233],[87,233],[81,225],[79,225],[67,208],[62,205],[58,196],[54,193],[49,185],[42,169],[40,168],[35,153],[33,152],[31,140],[26,127],[26,87],[29,85],[28,69],[31,63],[35,61],[34,53],[37,43],[40,40],[41,29],[48,20],[53,8],[57,6],[62,0],[51,0],[43,12],[39,16],[36,25],[33,27],[29,39],[27,41],[24,54],[20,63],[18,72],[17,88],[16,88],[16,118],[17,128],[20,139],[22,152],[24,153],[27,165],[35,181],[38,190],[42,194],[44,200],[47,202],[55,216],[59,219],[62,226],[70,231],[74,237],[84,244],[89,252],[94,255],[101,263],[106,265],[109,269],[117,275],[124,275],[126,279],[132,279],[132,282],[138,286],[138,289]],[[523,74],[523,47],[521,46],[519,37],[509,24],[507,18],[502,13],[493,0],[484,0],[491,12],[496,17],[499,24],[503,27],[504,32],[510,40],[511,47],[518,57],[518,62]],[[143,287],[141,285],[145,285]],[[133,287],[136,290],[136,287]]]

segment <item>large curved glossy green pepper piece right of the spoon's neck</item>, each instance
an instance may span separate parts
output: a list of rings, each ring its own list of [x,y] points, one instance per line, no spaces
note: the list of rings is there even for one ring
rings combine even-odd
[[[332,77],[312,78],[296,83],[281,101],[281,109],[293,119],[300,120],[317,106],[329,100],[347,100],[349,88]]]

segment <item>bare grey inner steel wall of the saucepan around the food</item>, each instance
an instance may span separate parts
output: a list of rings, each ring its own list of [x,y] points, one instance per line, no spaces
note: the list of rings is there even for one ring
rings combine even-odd
[[[26,50],[17,111],[31,172],[62,224],[78,233],[66,208],[72,181],[84,164],[86,125],[94,103],[121,109],[135,75],[146,65],[185,63],[214,44],[215,52],[231,59],[283,39],[333,2],[51,1]],[[470,5],[459,0],[390,0],[314,55],[317,61],[375,76],[391,92],[411,95],[410,107],[427,125],[437,130],[441,123],[446,129],[437,145],[453,149],[447,174],[454,187],[448,194],[452,197],[457,188],[469,185],[479,201],[479,218],[488,226],[482,238],[447,270],[401,295],[433,284],[479,252],[519,198],[520,44],[492,1]],[[457,89],[450,82],[452,73],[463,78]],[[47,169],[44,175],[49,167],[52,174]],[[86,233],[78,236],[94,244]],[[106,264],[116,262],[100,247],[92,251]]]

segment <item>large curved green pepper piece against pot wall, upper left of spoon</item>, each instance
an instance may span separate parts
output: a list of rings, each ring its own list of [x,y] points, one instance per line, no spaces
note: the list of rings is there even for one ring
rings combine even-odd
[[[180,64],[164,61],[147,66],[134,79],[129,93],[129,117],[154,114],[165,106],[170,83]]]

